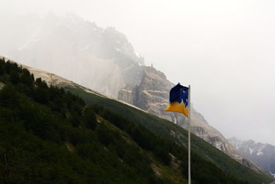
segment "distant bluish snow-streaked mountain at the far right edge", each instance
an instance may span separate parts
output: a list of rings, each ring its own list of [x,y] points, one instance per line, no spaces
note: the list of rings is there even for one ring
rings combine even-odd
[[[241,141],[232,137],[228,141],[236,147],[241,154],[246,156],[250,161],[260,165],[267,172],[275,176],[275,146],[255,141]]]

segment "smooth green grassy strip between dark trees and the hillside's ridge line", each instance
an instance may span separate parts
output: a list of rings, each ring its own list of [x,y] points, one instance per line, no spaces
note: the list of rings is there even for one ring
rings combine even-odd
[[[140,123],[158,136],[173,140],[183,146],[187,143],[186,130],[175,125],[174,123],[171,123],[170,121],[159,119],[157,116],[137,110],[129,105],[85,92],[79,88],[67,87],[67,89],[74,94],[78,94],[89,105],[100,104],[113,112],[122,114],[124,117],[135,123]],[[220,167],[225,173],[235,176],[236,178],[249,181],[249,183],[270,183],[272,181],[270,176],[253,172],[237,161],[234,161],[234,159],[231,159],[230,156],[223,154],[223,152],[217,150],[217,148],[213,147],[206,141],[203,141],[203,139],[200,139],[195,135],[192,135],[191,139],[192,152],[195,152],[200,156],[203,156],[205,159],[212,161],[212,163]]]

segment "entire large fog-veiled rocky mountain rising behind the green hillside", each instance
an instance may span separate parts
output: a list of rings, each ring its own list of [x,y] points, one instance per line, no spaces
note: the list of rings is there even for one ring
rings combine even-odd
[[[164,112],[173,83],[162,72],[146,67],[144,58],[135,52],[124,34],[115,28],[100,28],[74,14],[61,17],[50,13],[43,19],[25,19],[21,17],[19,23],[14,18],[3,25],[0,39],[9,44],[0,43],[1,53],[186,127],[183,116]],[[9,34],[7,30],[12,31]],[[14,41],[14,34],[18,41]],[[261,171],[239,154],[199,112],[194,108],[191,112],[194,134],[243,165]]]

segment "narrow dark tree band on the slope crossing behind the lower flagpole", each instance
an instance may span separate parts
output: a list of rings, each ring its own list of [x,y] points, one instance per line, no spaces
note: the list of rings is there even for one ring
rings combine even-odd
[[[180,147],[176,143],[161,139],[150,131],[146,130],[142,125],[131,123],[123,116],[114,114],[98,105],[94,106],[97,114],[109,120],[115,126],[126,132],[131,138],[142,147],[144,150],[149,150],[162,161],[165,165],[171,164],[170,154],[176,156],[181,161],[182,174],[187,178],[188,170],[186,169],[187,163],[187,150]],[[225,176],[219,167],[210,163],[209,161],[201,159],[197,154],[192,155],[192,179],[193,183],[242,183],[233,177]],[[243,182],[245,183],[245,182]]]

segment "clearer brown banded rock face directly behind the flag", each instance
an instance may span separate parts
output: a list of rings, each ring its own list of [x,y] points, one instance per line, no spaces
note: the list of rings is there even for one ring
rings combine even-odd
[[[177,125],[186,128],[187,119],[178,113],[164,112],[169,101],[169,92],[173,83],[166,79],[166,76],[153,67],[142,66],[142,79],[139,85],[131,87],[126,85],[118,92],[118,99],[131,103],[146,112],[155,114],[163,119],[173,121]],[[245,159],[239,154],[223,135],[211,127],[206,119],[191,106],[191,131],[219,150],[236,159],[252,170],[262,170],[259,166]]]

